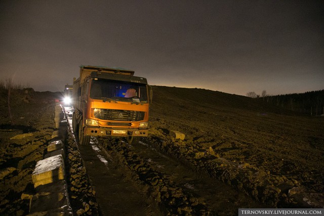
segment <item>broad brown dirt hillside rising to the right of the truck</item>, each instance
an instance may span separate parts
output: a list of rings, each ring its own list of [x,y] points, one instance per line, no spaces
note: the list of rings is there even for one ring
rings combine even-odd
[[[180,131],[185,145],[212,147],[221,158],[284,176],[309,191],[324,190],[324,118],[210,90],[152,89],[151,134]]]

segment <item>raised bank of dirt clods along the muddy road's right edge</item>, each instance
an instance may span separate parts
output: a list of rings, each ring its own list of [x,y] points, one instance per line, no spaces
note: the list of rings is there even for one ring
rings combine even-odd
[[[219,157],[211,147],[208,150],[200,149],[192,143],[188,145],[181,141],[161,140],[155,136],[145,138],[145,142],[158,151],[177,158],[191,170],[224,182],[270,208],[298,207],[298,204],[287,197],[288,190],[295,187],[295,184],[284,176],[272,176],[248,163],[228,161]]]

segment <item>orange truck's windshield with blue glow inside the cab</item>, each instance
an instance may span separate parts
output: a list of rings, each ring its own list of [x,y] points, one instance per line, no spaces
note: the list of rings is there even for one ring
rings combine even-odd
[[[146,84],[94,78],[90,98],[148,103]]]

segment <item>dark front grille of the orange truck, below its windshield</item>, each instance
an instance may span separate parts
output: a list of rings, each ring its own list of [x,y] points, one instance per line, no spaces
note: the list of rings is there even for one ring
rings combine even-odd
[[[145,112],[132,110],[101,109],[95,113],[95,117],[113,121],[140,121],[144,119],[144,114]]]

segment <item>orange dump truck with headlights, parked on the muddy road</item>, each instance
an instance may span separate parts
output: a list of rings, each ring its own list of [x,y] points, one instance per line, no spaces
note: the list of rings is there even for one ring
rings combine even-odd
[[[137,143],[148,135],[148,84],[132,70],[80,66],[72,103],[73,131],[81,145],[89,144],[91,136],[125,137]]]

